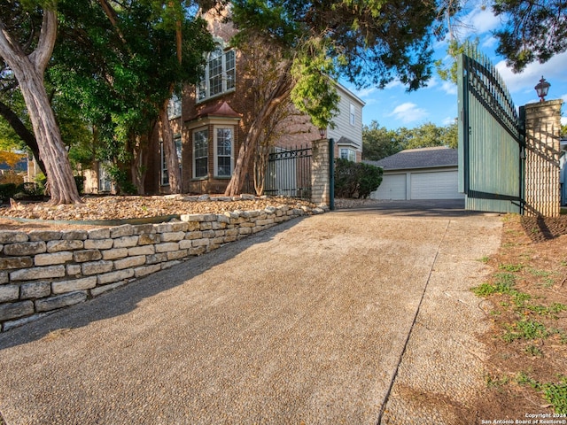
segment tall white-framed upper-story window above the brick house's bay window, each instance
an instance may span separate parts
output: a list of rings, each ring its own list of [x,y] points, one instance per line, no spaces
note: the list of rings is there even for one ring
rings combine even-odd
[[[235,50],[222,50],[217,47],[209,54],[205,76],[198,83],[197,99],[206,100],[232,91],[237,79]]]

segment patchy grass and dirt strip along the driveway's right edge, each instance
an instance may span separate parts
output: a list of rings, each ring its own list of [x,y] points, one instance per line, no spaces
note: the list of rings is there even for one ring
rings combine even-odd
[[[555,298],[556,291],[548,291],[563,278],[567,259],[555,259],[555,264],[551,265],[542,261],[548,257],[542,251],[535,255],[534,245],[522,241],[522,236],[530,231],[536,229],[529,228],[526,233],[509,229],[499,254],[479,259],[485,264],[496,264],[495,271],[489,282],[483,282],[471,291],[481,298],[493,298],[497,308],[490,315],[496,335],[499,335],[495,341],[501,341],[497,342],[499,348],[493,358],[497,363],[488,367],[485,383],[502,396],[518,391],[511,383],[528,386],[540,394],[542,406],[547,401],[555,413],[567,414],[567,376],[554,375],[556,370],[563,369],[557,369],[557,365],[564,364],[554,360],[563,352],[558,344],[567,344],[567,331],[562,329],[567,303]],[[502,367],[503,364],[506,366]],[[530,373],[514,372],[522,367],[532,370],[532,366]],[[490,375],[491,370],[496,373]],[[509,379],[515,374],[515,379]],[[517,395],[512,399],[515,397]]]

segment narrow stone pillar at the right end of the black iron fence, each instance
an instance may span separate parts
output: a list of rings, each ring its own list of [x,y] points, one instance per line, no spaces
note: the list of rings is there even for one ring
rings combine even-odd
[[[311,202],[330,206],[329,140],[315,140],[311,157]]]

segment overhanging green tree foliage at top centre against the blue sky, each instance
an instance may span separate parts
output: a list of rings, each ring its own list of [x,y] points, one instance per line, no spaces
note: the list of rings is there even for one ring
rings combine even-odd
[[[431,77],[432,0],[234,0],[231,13],[237,45],[260,36],[267,49],[274,46],[291,61],[291,99],[318,128],[337,110],[330,78],[384,88],[398,77],[413,90]]]

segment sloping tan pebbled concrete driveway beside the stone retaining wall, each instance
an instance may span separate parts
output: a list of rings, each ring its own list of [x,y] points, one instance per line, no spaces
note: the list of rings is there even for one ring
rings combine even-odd
[[[12,424],[471,423],[501,221],[294,220],[0,334]]]

